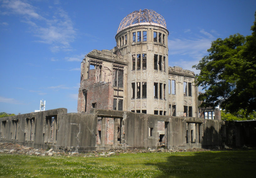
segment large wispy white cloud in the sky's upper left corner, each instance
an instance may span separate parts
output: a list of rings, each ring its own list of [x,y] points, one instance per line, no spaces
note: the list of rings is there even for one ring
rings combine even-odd
[[[59,4],[59,1],[55,1],[55,4]],[[19,15],[22,17],[21,22],[29,24],[30,31],[39,38],[36,42],[49,44],[52,52],[72,51],[70,43],[75,39],[76,30],[67,12],[61,7],[52,10],[54,13],[46,17],[27,1],[5,0],[2,7],[6,10],[3,14]]]

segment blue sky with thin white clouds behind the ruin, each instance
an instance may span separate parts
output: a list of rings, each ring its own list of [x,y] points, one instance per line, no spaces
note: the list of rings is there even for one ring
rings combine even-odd
[[[77,112],[83,57],[112,49],[121,20],[145,8],[166,20],[169,66],[195,71],[212,41],[251,34],[256,1],[0,0],[0,112],[33,112],[41,99]]]

